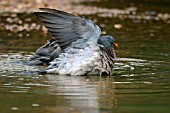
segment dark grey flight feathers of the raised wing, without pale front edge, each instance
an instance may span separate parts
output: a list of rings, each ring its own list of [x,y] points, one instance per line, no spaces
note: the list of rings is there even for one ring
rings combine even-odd
[[[68,47],[72,42],[83,38],[83,34],[91,33],[91,26],[88,21],[82,17],[54,10],[41,8],[45,12],[35,12],[42,21],[53,38],[58,42],[61,48]]]

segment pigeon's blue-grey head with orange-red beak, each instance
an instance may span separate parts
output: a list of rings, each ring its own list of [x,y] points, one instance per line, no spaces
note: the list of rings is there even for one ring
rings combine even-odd
[[[101,36],[98,39],[98,44],[102,45],[103,47],[118,47],[118,44],[115,43],[115,39],[111,36]]]

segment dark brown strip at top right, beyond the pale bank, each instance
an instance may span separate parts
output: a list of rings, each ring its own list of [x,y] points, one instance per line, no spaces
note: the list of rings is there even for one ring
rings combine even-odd
[[[97,6],[103,8],[124,9],[127,7],[137,7],[139,12],[153,11],[159,13],[170,13],[169,0],[100,0],[83,2],[86,6]]]

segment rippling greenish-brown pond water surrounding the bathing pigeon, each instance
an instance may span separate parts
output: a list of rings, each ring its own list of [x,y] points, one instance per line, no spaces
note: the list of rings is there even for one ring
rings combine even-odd
[[[112,10],[84,15],[119,44],[112,76],[36,74],[43,67],[22,62],[50,35],[32,14],[4,13],[0,113],[169,113],[170,2],[139,1],[84,3],[114,11],[133,9],[128,14],[113,15]]]

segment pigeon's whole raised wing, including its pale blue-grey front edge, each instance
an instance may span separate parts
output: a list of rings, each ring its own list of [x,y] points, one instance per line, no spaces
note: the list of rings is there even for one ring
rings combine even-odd
[[[86,47],[96,43],[101,35],[100,28],[91,20],[49,8],[34,14],[42,21],[62,49],[69,46]]]

